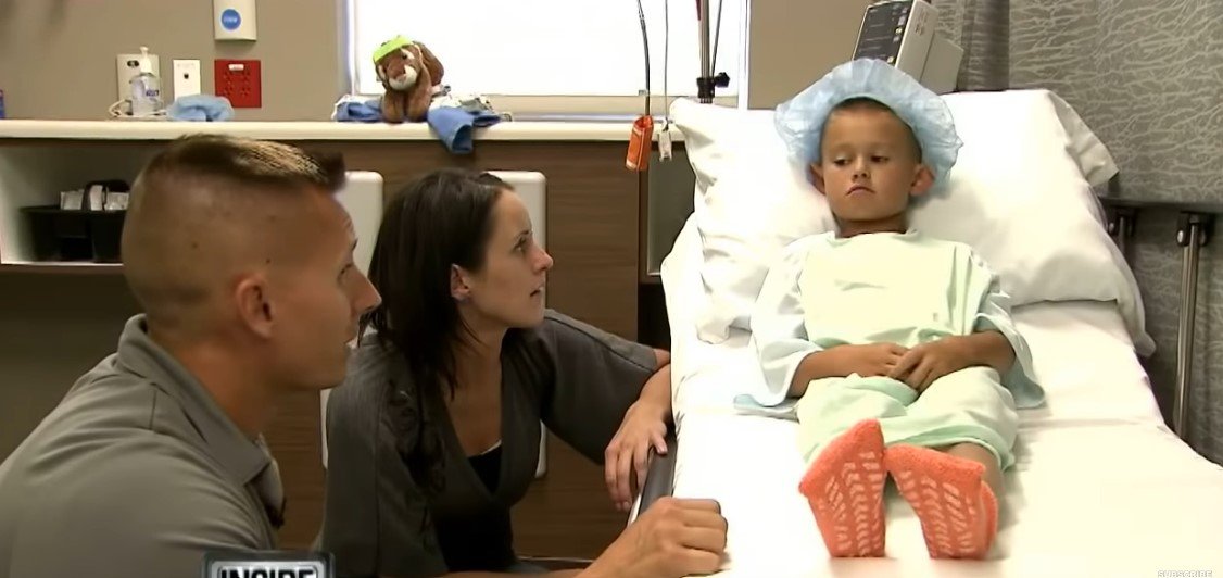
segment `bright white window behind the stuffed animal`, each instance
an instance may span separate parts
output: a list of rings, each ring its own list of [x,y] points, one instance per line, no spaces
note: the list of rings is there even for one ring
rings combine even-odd
[[[663,94],[664,2],[670,38],[668,94],[695,96],[700,75],[697,0],[641,0],[649,38],[651,93]],[[371,60],[402,34],[429,47],[459,93],[479,93],[515,113],[635,113],[646,88],[636,0],[350,0],[355,89],[380,94]],[[746,0],[711,0],[711,31],[722,7],[715,71],[730,75],[718,97],[742,81]],[[718,36],[711,32],[711,36]],[[711,50],[713,39],[711,39]],[[511,104],[512,103],[512,104]]]

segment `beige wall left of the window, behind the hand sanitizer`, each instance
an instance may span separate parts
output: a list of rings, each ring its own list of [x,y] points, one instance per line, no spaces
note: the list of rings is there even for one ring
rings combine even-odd
[[[213,92],[214,59],[258,59],[264,108],[238,120],[325,120],[347,82],[340,66],[342,0],[258,2],[254,43],[213,40],[210,0],[0,0],[0,89],[13,119],[103,119],[115,102],[115,55],[139,47],[201,61]]]

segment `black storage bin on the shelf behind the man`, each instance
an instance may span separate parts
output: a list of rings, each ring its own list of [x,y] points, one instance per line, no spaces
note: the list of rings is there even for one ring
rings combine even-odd
[[[24,207],[38,261],[117,263],[126,211]]]

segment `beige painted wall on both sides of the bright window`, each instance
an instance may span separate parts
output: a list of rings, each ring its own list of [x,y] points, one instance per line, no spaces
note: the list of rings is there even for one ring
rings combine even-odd
[[[734,1],[734,0],[729,0]],[[872,0],[751,0],[748,105],[772,108],[852,55]],[[198,59],[259,59],[260,109],[238,120],[325,120],[347,89],[344,0],[264,0],[256,43],[218,43],[210,0],[0,0],[0,89],[9,118],[100,119],[115,100],[115,54],[139,45]],[[818,26],[817,26],[818,24]],[[64,89],[64,78],[72,89]],[[168,82],[170,91],[172,82]]]

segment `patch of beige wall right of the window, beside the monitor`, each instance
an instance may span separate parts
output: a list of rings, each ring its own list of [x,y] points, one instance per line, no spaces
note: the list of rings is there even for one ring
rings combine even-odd
[[[750,108],[773,108],[854,56],[874,0],[751,0]]]

